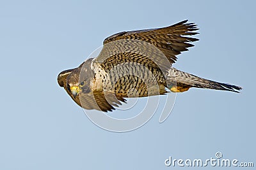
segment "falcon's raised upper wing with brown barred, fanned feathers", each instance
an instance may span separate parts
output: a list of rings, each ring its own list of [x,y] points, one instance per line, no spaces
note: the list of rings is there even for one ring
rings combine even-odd
[[[102,51],[95,61],[104,63],[102,65],[106,68],[131,61],[167,69],[177,60],[176,55],[193,46],[191,42],[198,41],[189,37],[198,34],[194,32],[198,28],[194,23],[187,22],[184,20],[163,28],[113,34],[104,40]]]

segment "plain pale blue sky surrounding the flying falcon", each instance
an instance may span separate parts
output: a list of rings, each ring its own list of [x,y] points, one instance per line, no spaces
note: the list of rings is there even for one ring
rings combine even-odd
[[[255,6],[1,1],[0,169],[172,169],[164,166],[169,156],[209,159],[218,151],[256,164]],[[115,133],[90,122],[58,87],[58,73],[79,66],[109,35],[185,19],[198,24],[200,41],[174,67],[240,85],[241,94],[191,89],[177,95],[163,124],[156,113],[136,131]]]

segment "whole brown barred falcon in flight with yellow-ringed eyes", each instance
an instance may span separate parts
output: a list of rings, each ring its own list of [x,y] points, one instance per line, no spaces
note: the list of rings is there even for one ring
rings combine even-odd
[[[194,46],[194,23],[184,20],[168,27],[113,34],[95,58],[58,74],[58,84],[86,110],[112,111],[125,97],[185,92],[191,87],[239,92],[241,87],[219,83],[172,67],[177,55]],[[122,102],[122,103],[121,103]]]

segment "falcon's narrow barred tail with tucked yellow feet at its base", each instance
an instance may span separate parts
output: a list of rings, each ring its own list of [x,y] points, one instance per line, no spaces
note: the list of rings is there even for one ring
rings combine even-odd
[[[239,93],[242,87],[236,85],[229,85],[226,83],[219,83],[216,81],[206,80],[193,74],[179,71],[172,67],[167,74],[167,82],[169,89],[172,92],[184,92],[190,87],[203,88],[203,89],[214,89],[214,90],[225,90]]]

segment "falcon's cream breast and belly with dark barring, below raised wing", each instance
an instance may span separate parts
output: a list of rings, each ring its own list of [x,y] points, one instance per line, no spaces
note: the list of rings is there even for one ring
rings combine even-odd
[[[146,97],[166,93],[166,80],[160,69],[134,62],[111,69],[95,69],[94,89],[103,89],[122,97]]]

